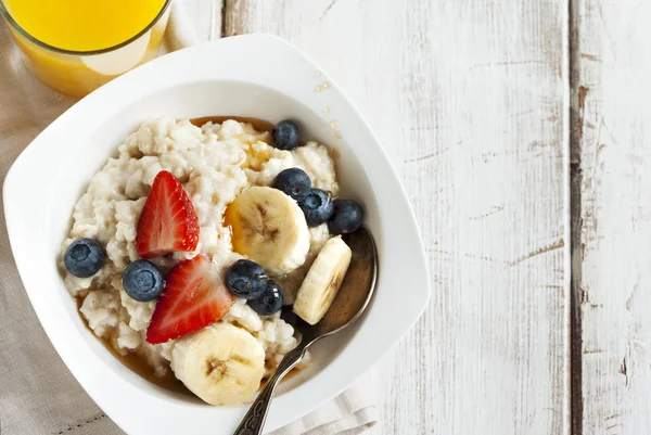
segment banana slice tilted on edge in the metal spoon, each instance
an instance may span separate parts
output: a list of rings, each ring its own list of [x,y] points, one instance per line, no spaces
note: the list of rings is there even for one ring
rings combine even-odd
[[[339,292],[353,252],[340,236],[332,238],[321,248],[309,268],[294,302],[294,312],[309,324],[317,324]]]

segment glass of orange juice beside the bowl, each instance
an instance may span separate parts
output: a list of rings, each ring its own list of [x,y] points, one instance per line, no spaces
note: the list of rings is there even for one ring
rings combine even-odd
[[[171,0],[0,0],[34,74],[81,98],[155,57]]]

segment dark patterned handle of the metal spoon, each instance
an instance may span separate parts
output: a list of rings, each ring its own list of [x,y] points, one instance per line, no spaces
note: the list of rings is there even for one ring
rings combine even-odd
[[[273,375],[267,381],[267,385],[265,385],[258,397],[251,405],[251,408],[248,408],[248,412],[246,412],[246,415],[244,415],[242,423],[240,423],[233,435],[260,435],[263,433],[276,385],[278,385],[280,380],[288,374],[290,370],[301,362],[305,348],[307,347],[306,345],[307,343],[301,343],[296,348],[284,356],[282,361],[280,361],[276,368]]]

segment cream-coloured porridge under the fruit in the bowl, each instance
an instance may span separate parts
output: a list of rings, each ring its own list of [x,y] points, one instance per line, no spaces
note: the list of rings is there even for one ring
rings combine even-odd
[[[65,285],[79,298],[80,312],[94,334],[120,355],[136,355],[159,376],[170,370],[175,346],[182,337],[148,343],[145,332],[156,299],[137,302],[123,286],[125,268],[140,258],[138,221],[158,172],[169,171],[180,181],[194,206],[200,232],[193,252],[174,252],[150,260],[165,276],[179,261],[201,253],[224,273],[243,258],[233,252],[231,228],[224,220],[227,206],[247,188],[269,187],[279,172],[293,167],[303,169],[314,188],[339,193],[333,159],[328,149],[316,142],[283,151],[272,146],[269,132],[235,120],[200,128],[189,120],[161,118],[129,135],[75,205],[73,227],[62,246],[62,261],[68,245],[81,238],[97,241],[104,250],[103,265],[93,276],[65,273]],[[309,228],[309,251],[303,265],[286,276],[271,276],[282,289],[285,304],[294,302],[316,255],[331,238],[327,223]],[[234,298],[218,323],[244,330],[261,345],[265,375],[297,345],[293,328],[280,312],[260,316],[243,298]]]

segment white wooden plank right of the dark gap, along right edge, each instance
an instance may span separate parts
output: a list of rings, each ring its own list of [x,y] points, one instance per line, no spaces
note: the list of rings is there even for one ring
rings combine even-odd
[[[573,0],[573,11],[583,337],[575,432],[649,434],[651,3]]]

